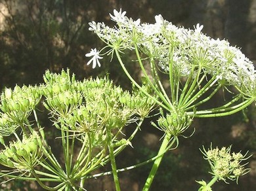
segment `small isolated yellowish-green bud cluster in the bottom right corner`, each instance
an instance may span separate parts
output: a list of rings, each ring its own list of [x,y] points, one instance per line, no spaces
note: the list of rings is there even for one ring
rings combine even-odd
[[[249,157],[245,158],[246,154],[243,156],[240,152],[232,152],[231,154],[230,149],[231,146],[221,149],[218,147],[210,148],[209,150],[203,148],[203,150],[201,150],[205,160],[208,160],[211,165],[211,174],[225,182],[226,179],[238,181],[238,177],[249,171],[249,169],[244,169],[244,165],[246,164],[241,164],[243,160]]]

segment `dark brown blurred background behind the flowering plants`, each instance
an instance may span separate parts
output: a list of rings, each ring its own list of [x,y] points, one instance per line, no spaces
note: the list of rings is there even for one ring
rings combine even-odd
[[[127,11],[128,17],[141,18],[142,22],[154,22],[154,16],[161,14],[176,26],[194,28],[202,24],[203,33],[214,39],[227,39],[256,63],[256,0],[0,0],[0,90],[15,84],[39,84],[45,70],[60,72],[67,67],[79,80],[108,74],[116,84],[131,88],[115,59],[110,63],[110,58],[105,58],[102,67],[92,69],[87,66],[89,58],[85,58],[91,48],[103,46],[88,30],[88,23],[94,20],[112,26],[109,13],[120,8]],[[129,67],[139,78],[138,67]],[[152,190],[198,190],[195,180],[211,179],[209,165],[199,148],[208,148],[211,143],[213,147],[232,145],[236,152],[242,150],[245,154],[249,150],[249,154],[254,154],[247,165],[251,172],[241,177],[238,185],[217,182],[213,190],[256,190],[255,117],[252,105],[244,113],[194,120],[194,135],[181,138],[179,148],[166,154]],[[117,156],[117,167],[127,167],[156,154],[163,133],[150,126],[150,120],[133,140],[134,148]],[[48,125],[51,126],[45,122]],[[51,128],[48,133],[54,137]],[[141,190],[151,165],[119,173],[122,190]],[[0,188],[40,190],[34,182],[24,181],[2,184]],[[89,180],[85,188],[114,190],[112,176]]]

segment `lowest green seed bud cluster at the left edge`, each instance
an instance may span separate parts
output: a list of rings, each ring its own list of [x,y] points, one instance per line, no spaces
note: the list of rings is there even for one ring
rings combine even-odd
[[[0,164],[18,170],[28,170],[38,164],[42,156],[41,137],[33,131],[30,137],[23,136],[22,141],[10,143],[9,147],[0,151]]]

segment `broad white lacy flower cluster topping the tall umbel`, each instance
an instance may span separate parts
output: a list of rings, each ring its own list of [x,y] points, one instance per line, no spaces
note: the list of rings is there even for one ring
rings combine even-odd
[[[125,16],[126,12],[114,10],[111,19],[117,26],[104,23],[89,23],[94,31],[112,50],[134,50],[135,46],[151,61],[158,63],[164,72],[169,69],[179,77],[189,77],[198,72],[219,78],[223,84],[240,88],[244,94],[255,95],[255,68],[240,49],[230,46],[228,41],[211,39],[197,24],[194,29],[177,27],[155,16],[154,24],[140,24]],[[170,67],[171,66],[171,67]]]

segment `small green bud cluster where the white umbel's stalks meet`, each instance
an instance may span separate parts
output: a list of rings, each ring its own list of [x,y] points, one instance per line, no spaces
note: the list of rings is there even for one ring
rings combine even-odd
[[[182,111],[167,114],[166,117],[162,115],[158,118],[158,127],[165,133],[170,133],[175,137],[188,129],[191,123],[192,117]],[[153,125],[156,126],[156,124]]]

